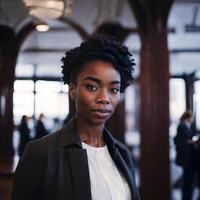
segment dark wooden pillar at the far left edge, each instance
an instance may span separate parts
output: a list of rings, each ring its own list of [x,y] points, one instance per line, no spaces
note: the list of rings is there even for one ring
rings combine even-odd
[[[14,30],[0,26],[0,162],[13,156],[13,47]]]

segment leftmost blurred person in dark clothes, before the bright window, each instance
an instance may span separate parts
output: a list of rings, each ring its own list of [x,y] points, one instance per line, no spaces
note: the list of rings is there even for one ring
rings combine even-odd
[[[21,122],[18,127],[18,131],[20,134],[19,139],[19,147],[18,147],[18,155],[21,156],[26,144],[30,141],[30,129],[28,127],[28,117],[23,115],[21,118]]]

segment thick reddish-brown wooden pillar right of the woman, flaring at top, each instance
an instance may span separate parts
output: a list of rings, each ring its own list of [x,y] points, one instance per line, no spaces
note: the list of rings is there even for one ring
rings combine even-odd
[[[170,199],[169,56],[167,16],[171,0],[129,0],[141,38],[142,200]]]

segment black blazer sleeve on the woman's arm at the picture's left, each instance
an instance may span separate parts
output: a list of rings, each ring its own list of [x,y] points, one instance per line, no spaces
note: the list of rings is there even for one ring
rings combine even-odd
[[[37,154],[34,144],[28,143],[14,174],[11,200],[40,199],[43,162]]]

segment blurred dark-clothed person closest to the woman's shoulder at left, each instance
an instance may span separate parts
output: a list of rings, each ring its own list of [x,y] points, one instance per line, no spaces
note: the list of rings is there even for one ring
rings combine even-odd
[[[41,113],[39,115],[39,118],[36,121],[35,139],[44,137],[45,135],[48,135],[48,131],[45,128],[45,124],[44,124],[44,114]]]

